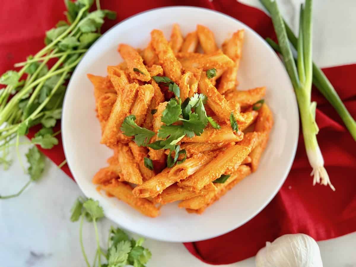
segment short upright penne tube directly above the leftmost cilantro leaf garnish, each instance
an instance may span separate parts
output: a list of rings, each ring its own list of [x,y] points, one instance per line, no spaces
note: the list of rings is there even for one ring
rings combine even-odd
[[[135,122],[138,126],[141,126],[145,119],[154,91],[151,84],[142,85],[137,89],[137,98],[132,104],[130,113],[136,116]]]

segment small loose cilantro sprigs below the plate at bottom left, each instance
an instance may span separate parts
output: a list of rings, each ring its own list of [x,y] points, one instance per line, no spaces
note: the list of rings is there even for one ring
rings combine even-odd
[[[107,250],[103,250],[103,248],[100,247],[97,221],[104,217],[104,211],[98,201],[79,197],[70,211],[72,214],[70,216],[71,221],[75,222],[80,219],[79,241],[85,263],[88,267],[90,267],[90,263],[83,244],[84,218],[89,222],[93,222],[94,225],[97,248],[93,267],[120,267],[126,265],[145,267],[147,261],[150,260],[152,256],[151,252],[147,248],[142,247],[145,239],[143,237],[138,240],[129,239],[129,236],[120,228],[115,229],[111,226]],[[103,258],[107,263],[103,264],[101,262]]]

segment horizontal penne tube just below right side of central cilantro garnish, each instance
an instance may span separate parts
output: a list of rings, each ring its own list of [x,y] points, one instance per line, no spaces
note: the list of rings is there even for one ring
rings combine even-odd
[[[195,135],[192,138],[183,137],[182,142],[195,142],[195,143],[227,143],[227,142],[239,142],[244,138],[244,133],[241,131],[234,132],[230,125],[221,126],[221,129],[214,129],[212,127],[206,127],[201,135]]]

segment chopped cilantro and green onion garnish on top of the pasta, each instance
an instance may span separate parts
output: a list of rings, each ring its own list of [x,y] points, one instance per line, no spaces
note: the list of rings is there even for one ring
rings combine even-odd
[[[208,72],[207,76],[214,77],[216,75],[215,69],[210,69]],[[180,99],[180,89],[176,83],[168,77],[153,76],[152,78],[156,83],[168,86],[168,90],[176,95],[176,98],[171,98],[171,100],[168,101],[166,109],[162,112],[161,121],[164,125],[161,126],[157,133],[157,136],[162,140],[148,143],[156,133],[138,126],[135,123],[135,115],[127,116],[120,130],[126,136],[134,136],[134,140],[138,146],[147,146],[155,150],[171,150],[167,157],[167,166],[170,168],[176,163],[183,163],[187,158],[186,151],[180,150],[180,146],[177,145],[184,136],[200,136],[208,124],[215,129],[220,129],[220,125],[214,121],[212,117],[206,115],[204,104],[208,98],[204,94],[195,94],[191,98],[188,97],[185,99],[182,103],[182,99]],[[157,110],[154,111],[154,113],[156,112]],[[232,117],[234,117],[233,114]],[[233,128],[233,130],[236,130],[236,128]],[[174,157],[171,156],[172,151],[175,152]],[[184,154],[184,158],[178,161],[180,154]],[[151,168],[151,164],[152,161],[149,162],[148,158],[145,159],[145,166],[147,168]]]

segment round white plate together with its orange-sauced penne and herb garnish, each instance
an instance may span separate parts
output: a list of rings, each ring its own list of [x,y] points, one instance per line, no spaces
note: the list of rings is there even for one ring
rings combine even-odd
[[[198,30],[212,32],[216,47],[205,52]],[[227,40],[242,32],[237,63]],[[158,58],[167,44],[180,76],[173,57]],[[167,7],[121,22],[85,54],[68,85],[62,136],[75,180],[108,218],[182,242],[221,235],[267,205],[291,166],[298,122],[288,75],[261,37],[218,12]]]

